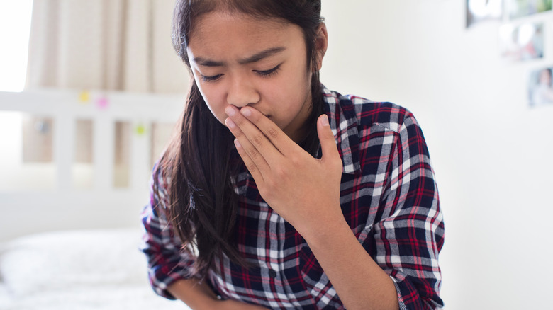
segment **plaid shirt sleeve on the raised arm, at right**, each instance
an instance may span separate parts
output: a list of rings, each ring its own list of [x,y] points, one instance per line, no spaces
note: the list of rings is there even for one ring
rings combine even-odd
[[[372,223],[376,261],[396,285],[400,309],[437,309],[444,242],[435,175],[423,133],[408,113],[396,132],[379,222]]]

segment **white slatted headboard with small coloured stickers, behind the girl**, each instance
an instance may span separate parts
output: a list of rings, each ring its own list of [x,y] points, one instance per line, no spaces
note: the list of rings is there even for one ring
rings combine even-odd
[[[50,189],[0,188],[0,241],[39,231],[94,229],[139,225],[140,209],[148,200],[151,169],[150,129],[153,122],[174,123],[184,105],[184,94],[158,96],[140,93],[40,90],[21,93],[0,92],[0,113],[16,111],[50,117],[52,160],[55,170]],[[91,120],[94,180],[90,188],[72,183],[75,124]],[[115,122],[140,125],[140,134],[130,134],[129,182],[126,188],[113,187]],[[0,124],[0,130],[2,130]],[[0,131],[2,140],[18,132]],[[1,140],[0,140],[1,141]],[[4,149],[6,148],[6,149]],[[9,175],[9,149],[0,144],[0,178],[4,183],[21,176]]]

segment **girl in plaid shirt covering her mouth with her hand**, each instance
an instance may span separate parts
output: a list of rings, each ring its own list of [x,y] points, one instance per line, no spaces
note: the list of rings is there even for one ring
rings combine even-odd
[[[192,309],[435,309],[443,243],[413,115],[329,91],[320,0],[178,0],[194,79],[143,212],[152,287]]]

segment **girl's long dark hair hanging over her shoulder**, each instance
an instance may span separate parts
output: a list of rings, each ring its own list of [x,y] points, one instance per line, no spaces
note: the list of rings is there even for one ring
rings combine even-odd
[[[311,115],[309,130],[301,143],[309,153],[317,153],[319,141],[315,122],[323,113],[315,38],[323,18],[320,0],[177,0],[173,16],[173,46],[190,69],[186,54],[194,21],[202,14],[227,10],[256,18],[280,18],[302,28],[307,50],[307,68],[311,78]],[[239,165],[231,162],[233,135],[213,116],[201,96],[194,79],[186,100],[184,113],[169,147],[157,165],[155,175],[162,173],[168,180],[169,222],[183,241],[182,251],[198,251],[191,275],[206,277],[213,267],[213,258],[223,253],[235,263],[245,265],[235,242],[235,222],[238,197],[234,177]],[[159,193],[158,178],[155,191]]]

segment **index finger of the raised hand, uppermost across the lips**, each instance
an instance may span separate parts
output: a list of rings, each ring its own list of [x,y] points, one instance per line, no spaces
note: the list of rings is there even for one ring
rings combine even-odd
[[[269,117],[263,115],[259,110],[252,107],[244,107],[240,110],[240,113],[244,115],[247,120],[250,120],[265,137],[271,141],[281,154],[286,155],[286,152],[299,147],[290,137],[288,137]]]

